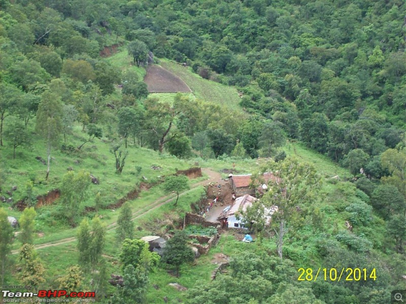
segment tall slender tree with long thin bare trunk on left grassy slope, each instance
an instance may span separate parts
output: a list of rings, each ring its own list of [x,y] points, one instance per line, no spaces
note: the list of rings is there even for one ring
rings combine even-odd
[[[60,97],[50,91],[42,94],[42,102],[38,107],[36,131],[46,140],[47,145],[47,174],[51,162],[51,147],[58,142],[62,131],[62,103]]]

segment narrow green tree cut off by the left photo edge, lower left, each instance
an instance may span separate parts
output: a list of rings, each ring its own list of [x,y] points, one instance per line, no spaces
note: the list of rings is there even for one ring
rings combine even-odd
[[[2,286],[4,277],[6,273],[8,273],[6,270],[8,269],[8,257],[10,255],[13,237],[13,228],[7,219],[7,213],[3,208],[0,208],[0,262],[2,263],[0,274],[2,276]]]

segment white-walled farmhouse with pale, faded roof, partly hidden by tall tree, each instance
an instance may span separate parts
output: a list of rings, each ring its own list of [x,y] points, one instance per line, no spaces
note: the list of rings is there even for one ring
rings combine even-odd
[[[257,198],[251,195],[240,196],[235,199],[234,205],[227,206],[223,212],[219,215],[218,219],[223,223],[223,227],[227,228],[244,228],[247,229],[248,225],[244,223],[243,219],[237,219],[236,214],[246,211],[248,207],[251,207],[253,202],[258,201]],[[270,223],[272,215],[278,211],[278,206],[272,206],[265,208],[266,224]],[[247,226],[247,227],[246,227]]]

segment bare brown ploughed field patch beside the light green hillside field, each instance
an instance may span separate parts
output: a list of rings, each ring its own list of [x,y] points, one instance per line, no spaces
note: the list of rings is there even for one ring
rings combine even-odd
[[[148,67],[144,81],[151,93],[189,93],[192,91],[182,79],[156,64]]]

